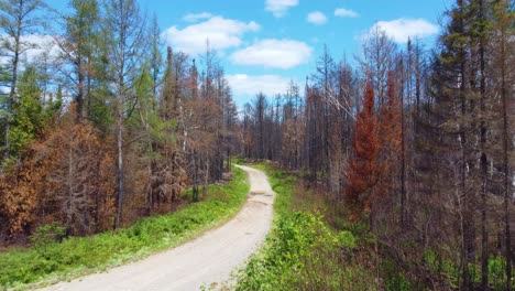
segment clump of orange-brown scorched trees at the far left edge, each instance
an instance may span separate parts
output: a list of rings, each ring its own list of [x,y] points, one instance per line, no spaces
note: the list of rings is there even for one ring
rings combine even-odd
[[[75,122],[75,114],[73,105],[0,176],[0,212],[11,237],[51,222],[73,235],[112,227],[113,153],[91,125]]]

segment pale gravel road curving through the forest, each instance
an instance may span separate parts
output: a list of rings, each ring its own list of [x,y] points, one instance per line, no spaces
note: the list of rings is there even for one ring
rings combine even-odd
[[[266,175],[249,166],[240,168],[249,175],[250,195],[227,224],[141,261],[43,290],[199,290],[230,283],[231,271],[241,267],[264,240],[273,215],[274,193]]]

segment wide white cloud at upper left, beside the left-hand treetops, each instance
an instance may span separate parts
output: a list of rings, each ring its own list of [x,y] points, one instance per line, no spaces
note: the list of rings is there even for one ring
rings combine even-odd
[[[172,26],[163,35],[176,50],[188,54],[206,51],[206,42],[213,50],[226,50],[241,45],[241,36],[245,32],[258,31],[260,25],[254,21],[249,23],[221,17],[212,17],[204,22],[191,24],[184,29]]]

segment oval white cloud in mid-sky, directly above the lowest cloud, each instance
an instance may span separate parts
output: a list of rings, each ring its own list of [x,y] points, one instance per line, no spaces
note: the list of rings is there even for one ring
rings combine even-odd
[[[313,48],[304,42],[270,39],[234,52],[231,61],[239,65],[285,69],[309,61],[311,51]]]

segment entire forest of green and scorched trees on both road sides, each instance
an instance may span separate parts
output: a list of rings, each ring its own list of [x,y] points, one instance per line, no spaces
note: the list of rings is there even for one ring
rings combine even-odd
[[[175,212],[240,157],[366,224],[431,290],[515,288],[513,1],[456,0],[432,46],[379,29],[353,61],[326,45],[304,84],[243,108],[209,40],[196,60],[135,0],[69,7],[0,0],[0,246]],[[34,34],[56,48],[26,57]]]

